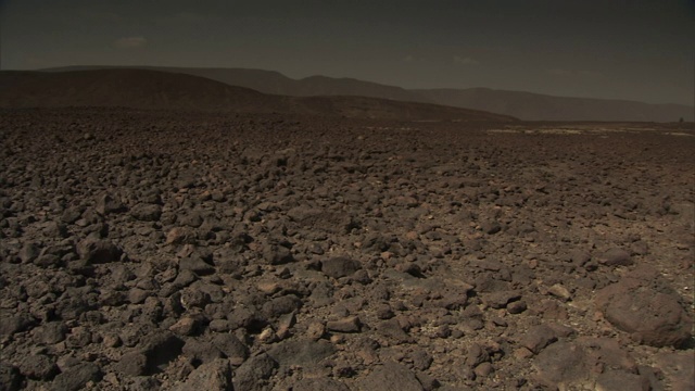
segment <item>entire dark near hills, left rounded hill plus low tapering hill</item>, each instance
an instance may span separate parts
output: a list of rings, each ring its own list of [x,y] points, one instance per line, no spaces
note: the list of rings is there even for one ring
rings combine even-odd
[[[203,77],[148,70],[0,72],[0,108],[101,106],[142,110],[289,113],[407,121],[516,118],[435,104],[362,97],[265,94]]]

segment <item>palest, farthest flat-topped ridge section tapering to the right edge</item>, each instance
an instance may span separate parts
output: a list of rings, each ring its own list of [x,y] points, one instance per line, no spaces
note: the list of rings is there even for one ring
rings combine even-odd
[[[649,104],[626,100],[554,97],[541,93],[470,89],[416,90],[444,105],[484,110],[526,121],[693,121],[694,109],[682,104]]]

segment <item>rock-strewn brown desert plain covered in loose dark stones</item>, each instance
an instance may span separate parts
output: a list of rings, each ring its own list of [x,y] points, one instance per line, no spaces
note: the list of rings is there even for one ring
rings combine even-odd
[[[0,389],[692,390],[695,131],[592,126],[2,112]]]

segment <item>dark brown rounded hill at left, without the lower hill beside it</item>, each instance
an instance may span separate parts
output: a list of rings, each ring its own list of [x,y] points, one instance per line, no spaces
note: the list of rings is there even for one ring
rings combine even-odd
[[[281,100],[202,77],[143,70],[0,73],[0,106],[273,111]]]

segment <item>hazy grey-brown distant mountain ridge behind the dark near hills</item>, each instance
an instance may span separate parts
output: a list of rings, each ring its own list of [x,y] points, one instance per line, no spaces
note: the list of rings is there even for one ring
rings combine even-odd
[[[98,68],[124,67],[66,66],[42,71],[64,72]],[[377,83],[327,76],[311,76],[298,80],[274,71],[247,68],[161,66],[132,68],[190,74],[231,86],[251,88],[264,93],[293,97],[359,96],[394,101],[435,103],[498,113],[526,121],[677,122],[681,117],[685,121],[695,121],[695,108],[683,104],[650,104],[627,100],[555,97],[489,88],[407,90]]]

